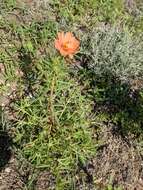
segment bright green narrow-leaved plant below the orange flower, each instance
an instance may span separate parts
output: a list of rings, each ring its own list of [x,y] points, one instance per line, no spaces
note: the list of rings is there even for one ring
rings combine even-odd
[[[95,152],[87,119],[90,102],[61,58],[45,58],[32,72],[31,95],[15,105],[14,139],[31,163],[52,171],[58,189],[67,189],[78,164]]]

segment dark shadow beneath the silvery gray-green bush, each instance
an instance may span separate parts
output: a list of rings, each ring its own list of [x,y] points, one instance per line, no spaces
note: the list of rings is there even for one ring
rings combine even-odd
[[[83,81],[88,81],[87,90],[94,101],[93,112],[97,115],[106,114],[109,122],[117,126],[115,132],[122,135],[142,134],[142,88],[115,79],[111,73],[102,77],[95,76],[88,68],[84,68]]]

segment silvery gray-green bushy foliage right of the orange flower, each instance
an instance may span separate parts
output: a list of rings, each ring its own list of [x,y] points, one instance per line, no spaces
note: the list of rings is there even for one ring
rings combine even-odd
[[[143,78],[143,40],[117,29],[94,30],[86,41],[88,66],[96,76],[124,82]],[[83,44],[85,46],[85,44]]]

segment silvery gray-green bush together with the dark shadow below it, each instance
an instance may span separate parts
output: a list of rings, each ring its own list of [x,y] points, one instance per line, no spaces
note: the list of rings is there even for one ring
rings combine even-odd
[[[91,38],[92,36],[92,38]],[[142,134],[143,41],[117,28],[100,28],[82,40],[81,76],[97,115],[107,114],[121,134]],[[83,80],[82,80],[83,81]],[[109,119],[110,118],[110,119]]]

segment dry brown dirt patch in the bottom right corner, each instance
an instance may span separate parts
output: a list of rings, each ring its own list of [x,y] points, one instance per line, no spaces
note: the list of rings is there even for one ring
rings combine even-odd
[[[99,141],[102,146],[87,165],[90,175],[96,178],[99,190],[109,183],[114,188],[121,186],[124,190],[142,190],[143,157],[133,138],[123,137],[112,126],[102,129]]]

